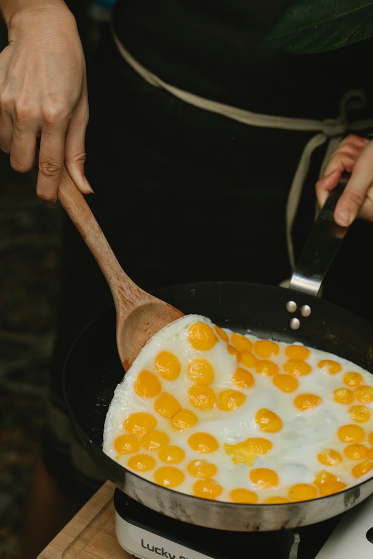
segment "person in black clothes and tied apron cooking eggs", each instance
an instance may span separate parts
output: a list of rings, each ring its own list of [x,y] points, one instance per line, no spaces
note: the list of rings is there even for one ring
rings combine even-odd
[[[20,172],[37,162],[36,193],[51,206],[65,165],[119,262],[147,291],[216,280],[277,285],[290,276],[314,221],[315,183],[322,205],[348,170],[336,221],[373,219],[364,64],[372,41],[315,54],[261,48],[290,5],[117,0],[111,25],[84,60],[62,0],[0,0],[8,27],[0,148]],[[354,224],[353,246],[340,253],[349,263],[347,286],[336,281],[337,262],[324,296],[370,319],[361,297],[371,282],[365,225]],[[68,219],[62,238],[49,415],[25,558],[103,481],[70,429],[61,371],[73,340],[112,304],[111,294]],[[357,292],[358,266],[364,281]]]

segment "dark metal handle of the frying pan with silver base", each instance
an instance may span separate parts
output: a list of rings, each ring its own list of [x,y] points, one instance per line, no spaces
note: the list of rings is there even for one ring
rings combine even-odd
[[[336,188],[330,192],[296,263],[290,278],[290,289],[319,295],[324,277],[348,231],[348,227],[336,224],[333,214],[349,178],[350,174],[344,173]]]

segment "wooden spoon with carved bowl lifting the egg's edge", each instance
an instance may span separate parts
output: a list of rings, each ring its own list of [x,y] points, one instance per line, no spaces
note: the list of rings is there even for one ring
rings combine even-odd
[[[58,199],[86,241],[110,287],[116,309],[117,349],[127,371],[148,340],[163,326],[181,318],[183,313],[143,291],[128,277],[66,169],[60,179]]]

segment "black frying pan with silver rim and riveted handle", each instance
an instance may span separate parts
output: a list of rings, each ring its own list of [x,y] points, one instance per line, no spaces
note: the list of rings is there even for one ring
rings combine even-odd
[[[337,354],[373,373],[373,326],[317,296],[346,233],[333,221],[337,197],[329,197],[315,222],[289,288],[203,282],[160,288],[154,295],[186,314],[208,316],[221,327],[279,342],[301,342]],[[243,532],[279,530],[332,518],[373,492],[371,478],[318,499],[250,505],[201,499],[153,484],[102,451],[105,416],[123,374],[115,343],[115,310],[109,309],[86,326],[70,348],[63,372],[65,402],[70,419],[98,468],[120,490],[150,509],[209,528]]]

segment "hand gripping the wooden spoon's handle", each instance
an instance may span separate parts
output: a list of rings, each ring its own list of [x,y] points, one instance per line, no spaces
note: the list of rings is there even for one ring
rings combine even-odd
[[[88,122],[86,65],[72,13],[61,0],[17,3],[0,54],[0,149],[13,169],[36,164],[36,192],[55,203],[63,164],[81,192]],[[25,7],[26,5],[26,7]],[[6,18],[5,18],[6,19]]]

